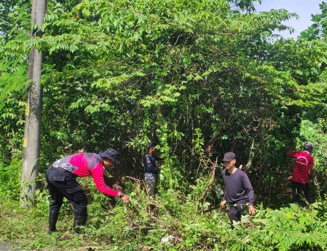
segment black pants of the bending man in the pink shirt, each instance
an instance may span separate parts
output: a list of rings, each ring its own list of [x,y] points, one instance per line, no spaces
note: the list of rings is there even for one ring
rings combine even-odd
[[[74,214],[87,215],[87,197],[76,181],[76,176],[68,171],[50,166],[45,174],[51,195],[50,211],[59,211],[62,200],[66,197],[73,204]]]

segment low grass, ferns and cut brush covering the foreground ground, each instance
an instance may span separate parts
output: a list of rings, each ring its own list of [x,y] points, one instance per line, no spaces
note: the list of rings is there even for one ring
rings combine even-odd
[[[255,216],[245,213],[241,223],[231,230],[226,212],[203,214],[197,201],[174,190],[149,199],[139,183],[128,184],[127,190],[133,191],[131,204],[126,207],[118,201],[114,208],[92,210],[83,229],[87,236],[82,239],[71,234],[72,212],[60,214],[58,233],[46,234],[45,200],[39,200],[36,209],[28,210],[19,208],[13,200],[2,199],[0,233],[7,240],[19,238],[21,247],[27,249],[75,250],[91,246],[100,250],[324,250],[327,245],[326,202],[308,208],[292,204],[279,210],[259,205]],[[45,194],[41,197],[46,198]],[[95,204],[90,203],[88,209]],[[176,237],[172,243],[160,243],[170,234]]]

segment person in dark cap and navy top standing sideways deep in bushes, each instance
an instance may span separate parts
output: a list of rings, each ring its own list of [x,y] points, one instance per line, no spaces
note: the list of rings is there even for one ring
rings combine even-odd
[[[161,160],[160,157],[154,154],[156,144],[151,142],[148,145],[148,153],[144,157],[145,175],[144,181],[149,196],[156,194],[156,187],[158,183],[158,172],[160,166],[157,166],[156,160]]]

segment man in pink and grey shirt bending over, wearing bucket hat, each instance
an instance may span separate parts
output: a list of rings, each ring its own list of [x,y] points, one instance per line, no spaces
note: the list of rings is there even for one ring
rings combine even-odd
[[[129,196],[123,193],[123,189],[118,184],[109,184],[112,189],[106,185],[104,176],[104,167],[114,166],[120,163],[119,153],[111,148],[105,152],[95,153],[77,153],[68,155],[54,162],[46,171],[45,178],[48,183],[49,193],[51,195],[49,212],[49,231],[51,234],[56,231],[59,210],[62,206],[63,198],[66,197],[74,207],[74,230],[75,234],[80,234],[80,226],[85,225],[87,220],[87,197],[76,181],[78,177],[91,176],[97,189],[108,196],[120,197],[123,202],[129,202]]]

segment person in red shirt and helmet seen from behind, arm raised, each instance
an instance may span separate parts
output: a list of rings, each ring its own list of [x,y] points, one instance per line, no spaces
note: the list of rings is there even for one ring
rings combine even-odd
[[[303,145],[303,150],[295,152],[291,149],[287,155],[295,159],[294,170],[292,174],[292,192],[293,192],[293,202],[300,202],[300,192],[303,191],[307,202],[311,203],[311,194],[309,188],[309,175],[312,174],[313,168],[313,143],[306,142]]]

